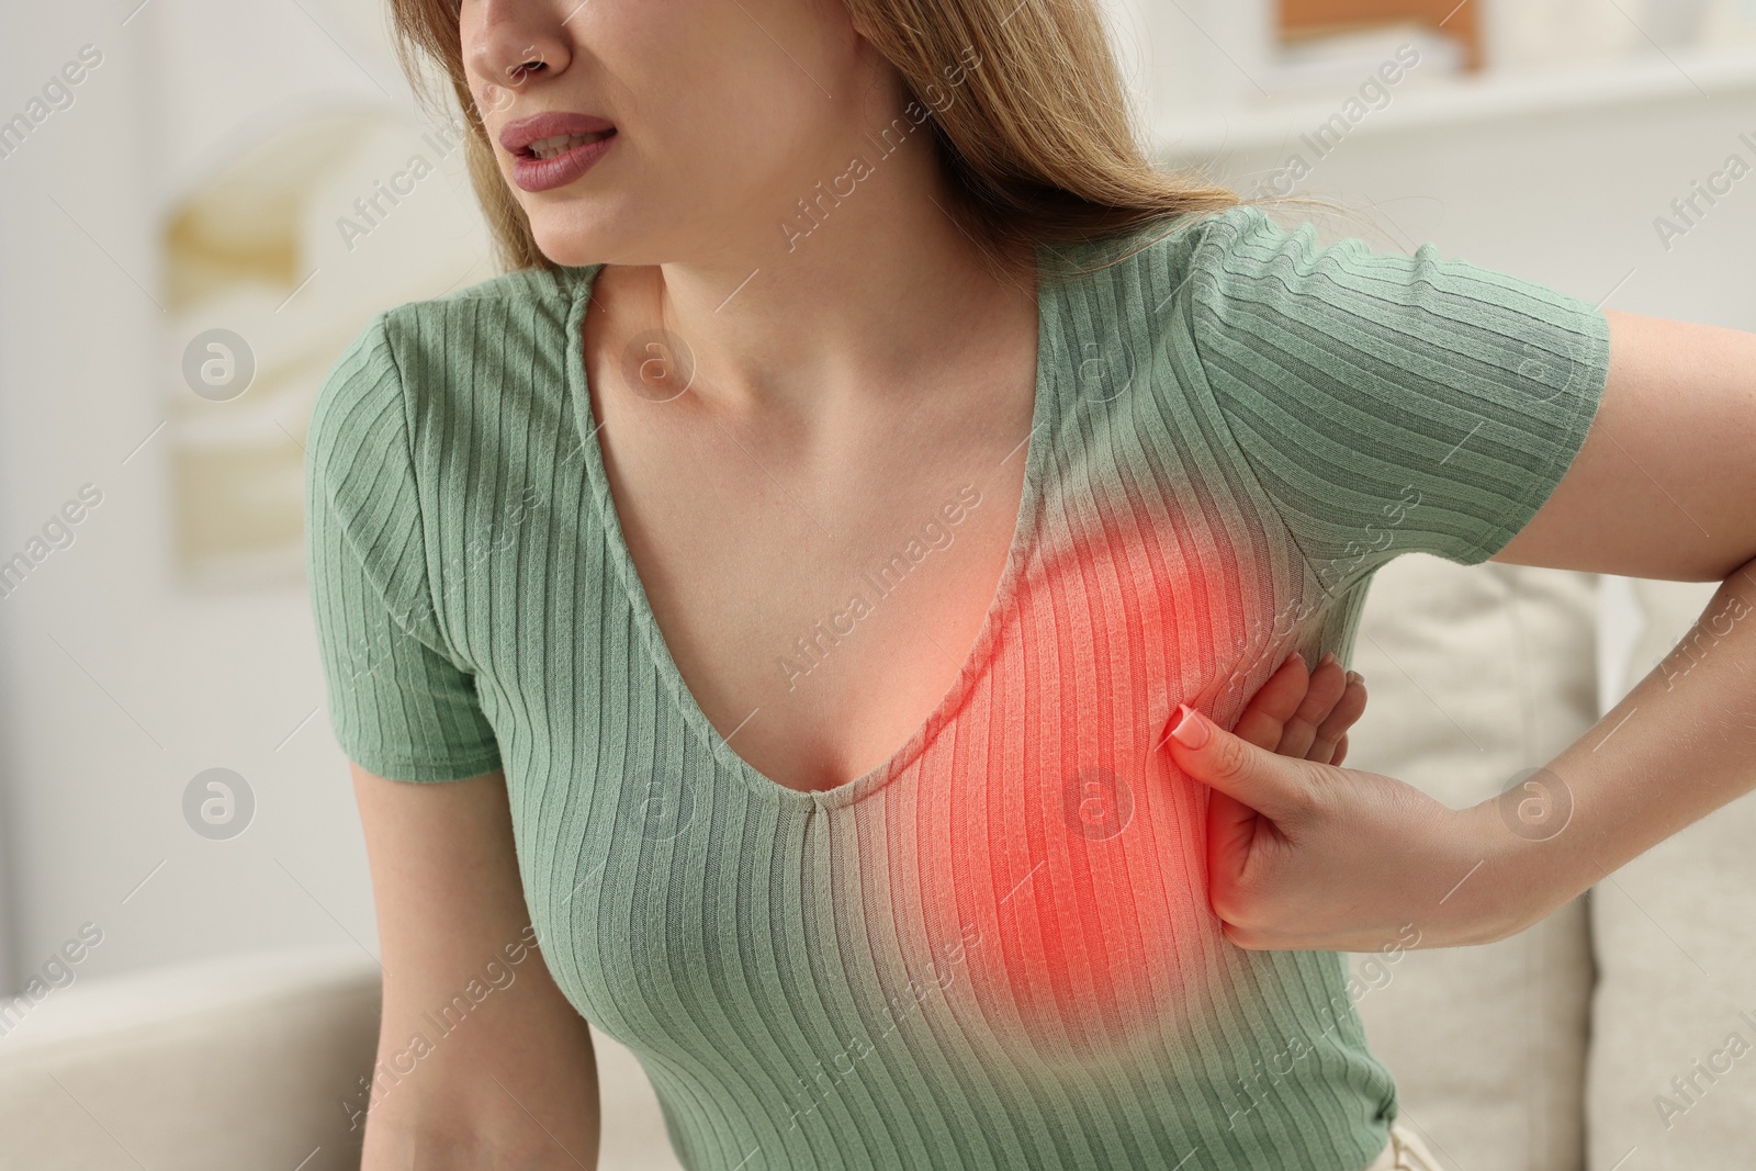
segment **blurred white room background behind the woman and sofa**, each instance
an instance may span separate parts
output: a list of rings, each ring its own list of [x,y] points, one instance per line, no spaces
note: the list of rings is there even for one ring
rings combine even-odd
[[[1326,237],[1431,241],[1591,302],[1756,328],[1756,0],[1106,12],[1168,167],[1324,197],[1349,212]],[[35,1017],[128,976],[176,999],[200,983],[177,973],[216,962],[258,983],[313,955],[371,966],[304,590],[302,444],[376,311],[495,274],[458,126],[413,102],[378,4],[5,19],[0,992],[47,983],[16,1013]],[[1654,658],[1635,660],[1628,583],[1605,583],[1593,623],[1607,706]],[[0,1067],[30,1027],[0,1009]],[[291,1171],[306,1152],[284,1153]],[[53,1166],[76,1164],[107,1166]]]

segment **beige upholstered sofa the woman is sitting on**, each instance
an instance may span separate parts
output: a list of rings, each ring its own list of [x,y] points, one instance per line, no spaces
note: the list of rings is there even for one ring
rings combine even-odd
[[[1644,674],[1712,586],[1637,593]],[[1598,709],[1596,595],[1580,574],[1394,562],[1356,650],[1371,702],[1349,762],[1466,804],[1547,760]],[[1405,1122],[1466,1171],[1749,1166],[1756,1052],[1730,1057],[1728,1034],[1756,1041],[1752,906],[1745,799],[1515,939],[1363,973],[1359,1011]],[[356,1167],[344,1101],[371,1066],[376,997],[358,948],[51,994],[0,1038],[0,1171]],[[639,1066],[606,1038],[599,1062],[601,1166],[676,1167]],[[1680,1110],[1661,1111],[1659,1094]]]

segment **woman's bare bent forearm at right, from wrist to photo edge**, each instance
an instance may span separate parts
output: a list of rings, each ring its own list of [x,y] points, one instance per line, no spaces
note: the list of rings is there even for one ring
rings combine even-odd
[[[1688,636],[1549,767],[1479,806],[1484,887],[1514,934],[1756,788],[1756,560]],[[1519,894],[1522,892],[1522,894]]]

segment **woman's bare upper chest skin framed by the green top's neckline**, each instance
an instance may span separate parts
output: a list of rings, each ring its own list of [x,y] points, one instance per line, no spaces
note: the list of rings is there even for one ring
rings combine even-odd
[[[827,790],[878,767],[957,679],[1018,537],[1022,341],[808,423],[690,397],[653,409],[601,383],[630,590],[692,702],[766,778]]]

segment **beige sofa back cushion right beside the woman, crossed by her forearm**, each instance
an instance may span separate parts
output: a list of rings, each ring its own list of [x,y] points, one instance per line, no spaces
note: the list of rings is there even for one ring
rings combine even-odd
[[[1378,571],[1361,616],[1350,665],[1368,704],[1345,764],[1452,808],[1489,799],[1596,720],[1594,648],[1593,576],[1401,557]],[[1352,966],[1401,1122],[1443,1166],[1582,1169],[1584,899],[1512,939]]]

